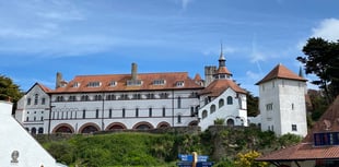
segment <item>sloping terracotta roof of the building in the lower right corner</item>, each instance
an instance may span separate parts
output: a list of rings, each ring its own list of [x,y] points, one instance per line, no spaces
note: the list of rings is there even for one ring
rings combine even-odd
[[[339,96],[337,96],[336,100],[314,124],[313,129],[304,138],[302,143],[262,155],[259,158],[256,158],[256,160],[282,162],[304,159],[338,159],[339,145],[314,145],[313,134],[322,132],[339,132]]]

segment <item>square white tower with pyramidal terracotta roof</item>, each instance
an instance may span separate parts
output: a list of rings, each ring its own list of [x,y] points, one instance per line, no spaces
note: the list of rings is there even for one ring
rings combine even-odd
[[[259,86],[259,110],[262,131],[305,136],[307,134],[305,90],[306,80],[278,64]]]

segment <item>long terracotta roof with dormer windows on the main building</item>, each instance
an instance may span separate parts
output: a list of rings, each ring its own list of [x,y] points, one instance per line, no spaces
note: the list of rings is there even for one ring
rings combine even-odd
[[[188,76],[187,72],[139,73],[137,80],[142,82],[140,85],[127,85],[127,82],[130,80],[131,74],[78,75],[66,86],[59,87],[52,93],[203,88],[196,84]],[[97,82],[100,85],[89,86],[93,82]],[[155,84],[155,82],[157,83]],[[184,84],[177,86],[178,82],[183,82]]]

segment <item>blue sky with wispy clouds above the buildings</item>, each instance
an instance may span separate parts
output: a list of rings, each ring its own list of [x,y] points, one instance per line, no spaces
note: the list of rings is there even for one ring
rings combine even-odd
[[[57,72],[138,71],[203,76],[226,67],[242,87],[278,63],[295,73],[309,37],[339,39],[338,0],[0,0],[0,74],[27,91]],[[307,75],[307,79],[312,79]]]

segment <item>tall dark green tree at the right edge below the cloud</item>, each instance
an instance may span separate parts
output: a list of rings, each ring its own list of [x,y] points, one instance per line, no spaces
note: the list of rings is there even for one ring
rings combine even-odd
[[[339,94],[339,40],[309,38],[303,52],[306,56],[297,57],[296,60],[304,63],[306,74],[318,76],[312,83],[324,90],[327,103],[330,104]]]

